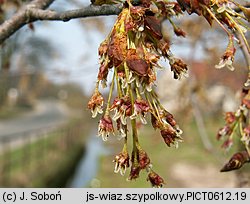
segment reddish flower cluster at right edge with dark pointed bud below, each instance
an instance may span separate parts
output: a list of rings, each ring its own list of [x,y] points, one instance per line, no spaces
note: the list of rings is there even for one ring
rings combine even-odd
[[[236,153],[221,171],[230,171],[241,168],[250,161],[250,90],[242,90],[241,105],[235,112],[227,112],[226,124],[217,134],[217,139],[224,139],[223,148],[229,149],[234,139],[240,135],[245,151]]]

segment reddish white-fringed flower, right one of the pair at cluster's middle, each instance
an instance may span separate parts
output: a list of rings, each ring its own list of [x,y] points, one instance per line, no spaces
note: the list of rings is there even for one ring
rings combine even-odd
[[[137,116],[143,124],[147,124],[145,119],[146,113],[149,112],[148,102],[143,99],[136,99],[134,103],[134,114],[130,116],[130,119],[135,119]]]

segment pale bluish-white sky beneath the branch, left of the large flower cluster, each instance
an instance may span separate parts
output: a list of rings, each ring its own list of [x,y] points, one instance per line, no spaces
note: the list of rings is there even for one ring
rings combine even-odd
[[[86,2],[87,0],[83,0]],[[70,4],[61,1],[52,5],[52,9],[74,9]],[[55,81],[75,81],[80,83],[85,91],[90,92],[95,84],[98,71],[98,46],[104,40],[115,17],[104,17],[106,32],[101,33],[95,28],[85,28],[79,20],[69,22],[40,22],[35,24],[33,35],[48,39],[56,48],[52,70],[49,78]],[[29,32],[29,31],[27,31]],[[59,75],[59,71],[67,74]],[[59,76],[58,76],[59,75]]]

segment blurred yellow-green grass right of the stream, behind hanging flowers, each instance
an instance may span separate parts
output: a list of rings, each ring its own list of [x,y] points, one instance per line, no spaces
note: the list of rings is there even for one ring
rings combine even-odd
[[[232,155],[233,150],[229,153],[225,153],[220,147],[221,142],[216,140],[217,130],[221,126],[223,126],[222,120],[206,121],[209,139],[213,143],[214,148],[212,152],[208,152],[204,149],[194,121],[181,125],[184,130],[184,142],[179,143],[178,149],[167,147],[159,131],[155,132],[150,126],[143,127],[139,130],[139,139],[142,148],[148,153],[151,159],[153,169],[164,178],[167,183],[166,186],[178,187],[181,185],[175,178],[171,177],[171,168],[175,164],[189,164],[199,168],[213,166],[219,171],[223,163]],[[126,181],[129,169],[124,177],[120,174],[115,174],[113,172],[114,163],[112,163],[112,160],[114,156],[121,151],[122,142],[114,139],[109,142],[107,146],[114,150],[114,153],[100,159],[100,170],[96,178],[100,180],[101,187],[150,187],[150,184],[146,182],[147,175],[145,172],[142,172],[140,178],[136,181],[129,182]]]

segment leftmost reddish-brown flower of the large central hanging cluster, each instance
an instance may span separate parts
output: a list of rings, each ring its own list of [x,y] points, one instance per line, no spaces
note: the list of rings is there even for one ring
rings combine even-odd
[[[91,99],[88,102],[88,109],[91,110],[92,118],[95,118],[98,113],[102,114],[102,106],[103,106],[104,98],[99,91],[95,91],[92,95]]]

